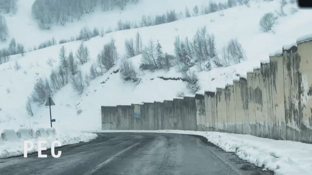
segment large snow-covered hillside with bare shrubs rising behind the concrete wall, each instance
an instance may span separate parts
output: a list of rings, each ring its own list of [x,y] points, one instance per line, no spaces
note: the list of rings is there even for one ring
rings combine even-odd
[[[19,6],[22,5],[23,0],[20,0]],[[133,11],[140,18],[145,12],[158,13],[160,9],[165,12],[167,9],[179,7],[184,10],[186,4],[169,3],[168,1],[157,1],[163,3],[162,6],[156,6],[156,1],[142,0],[142,7],[151,10],[138,10],[138,6],[133,6]],[[175,1],[177,2],[177,1]],[[190,7],[193,7],[197,2],[188,2]],[[192,2],[192,3],[191,3]],[[202,1],[198,1],[200,3]],[[166,4],[166,5],[165,5]],[[26,5],[26,4],[25,4]],[[165,8],[166,7],[166,8]],[[295,14],[290,14],[290,7],[295,7],[294,4],[288,3],[285,7],[286,17],[280,17],[278,24],[274,26],[273,32],[263,33],[259,29],[259,20],[266,12],[274,12],[279,10],[279,1],[272,2],[256,2],[251,1],[250,7],[236,6],[220,12],[210,13],[207,15],[184,18],[179,21],[166,23],[157,26],[149,26],[137,29],[130,29],[124,31],[116,31],[106,34],[104,37],[94,37],[91,40],[84,41],[84,44],[90,50],[90,61],[84,65],[78,65],[84,73],[89,72],[91,64],[94,63],[97,54],[102,50],[103,45],[108,43],[113,37],[116,40],[116,47],[120,58],[124,55],[125,39],[134,38],[137,32],[140,33],[143,39],[143,44],[147,45],[150,39],[155,42],[159,40],[163,51],[169,54],[174,54],[174,40],[176,36],[185,38],[193,38],[198,28],[206,26],[208,33],[214,33],[216,37],[217,53],[221,55],[223,45],[226,45],[230,39],[237,38],[246,51],[247,61],[229,67],[221,67],[212,69],[211,71],[197,72],[200,92],[204,90],[214,91],[216,87],[224,87],[227,83],[232,83],[233,79],[237,78],[237,74],[246,75],[247,71],[251,71],[253,67],[260,65],[261,60],[268,60],[269,53],[275,50],[280,50],[283,45],[294,43],[298,37],[311,33],[312,10],[299,10]],[[130,6],[127,7],[130,9]],[[19,7],[19,12],[16,16],[11,16],[8,19],[18,18],[22,10],[30,12],[30,5]],[[127,11],[125,11],[127,12]],[[84,16],[82,23],[93,24],[100,22],[92,20],[92,16],[99,15],[100,12],[90,14],[90,18]],[[102,12],[101,12],[102,13]],[[103,12],[104,13],[104,12]],[[119,14],[119,11],[110,12],[111,15]],[[120,18],[126,17],[126,13],[120,13]],[[135,16],[135,15],[134,15]],[[133,16],[133,18],[134,18]],[[115,17],[115,16],[114,16]],[[125,18],[125,19],[129,19]],[[132,15],[131,15],[132,18]],[[24,18],[23,18],[24,19]],[[16,19],[15,19],[16,20]],[[111,20],[111,19],[110,19]],[[14,20],[13,20],[14,21]],[[28,22],[27,22],[28,21]],[[116,20],[112,20],[111,24],[115,25]],[[25,45],[33,45],[32,42],[39,42],[41,40],[50,39],[51,36],[63,38],[62,35],[68,36],[69,33],[76,34],[83,26],[82,23],[66,24],[63,26],[53,26],[51,31],[39,31],[37,23],[31,20],[30,15],[25,17],[23,21],[29,23],[25,27],[29,27],[29,34],[20,33],[17,28],[21,28],[20,24],[16,22],[16,39],[18,42],[25,41]],[[90,22],[90,23],[89,23]],[[8,23],[11,23],[8,22]],[[13,24],[13,22],[12,22]],[[9,24],[11,25],[11,24]],[[106,26],[103,24],[103,26]],[[10,61],[0,65],[0,128],[17,129],[21,127],[24,121],[30,120],[37,123],[38,126],[44,127],[50,125],[49,109],[44,105],[32,104],[34,116],[29,116],[25,110],[25,103],[27,97],[30,96],[33,86],[39,78],[49,78],[51,70],[56,69],[60,65],[59,52],[62,46],[65,46],[66,52],[72,50],[75,52],[81,41],[74,41],[61,45],[54,45],[44,49],[26,53],[25,56],[14,55],[11,56]],[[50,67],[46,61],[53,58],[53,67]],[[163,77],[182,77],[182,73],[177,68],[172,67],[169,71],[156,70],[151,72],[148,70],[142,71],[139,69],[141,55],[130,58],[135,65],[137,77],[141,78],[139,83],[124,81],[121,78],[118,62],[103,76],[97,77],[90,82],[88,87],[85,87],[84,92],[78,95],[71,87],[71,83],[62,87],[61,90],[54,93],[52,99],[56,106],[52,106],[52,117],[56,119],[53,125],[57,128],[71,128],[76,130],[100,129],[101,117],[100,106],[112,105],[130,105],[131,103],[163,101],[176,97],[177,92],[183,91],[188,94],[187,83],[181,80],[163,80],[157,78]],[[18,62],[21,69],[15,70],[14,64]],[[192,69],[196,69],[193,67]],[[9,91],[9,92],[8,92]],[[81,114],[77,111],[81,110]],[[26,122],[25,122],[26,123]]]

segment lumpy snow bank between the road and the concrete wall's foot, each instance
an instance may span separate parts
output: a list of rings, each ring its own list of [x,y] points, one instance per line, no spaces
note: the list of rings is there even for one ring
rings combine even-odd
[[[102,130],[97,132],[152,132],[201,135],[227,152],[276,175],[311,174],[312,144],[272,140],[252,135],[183,130]]]

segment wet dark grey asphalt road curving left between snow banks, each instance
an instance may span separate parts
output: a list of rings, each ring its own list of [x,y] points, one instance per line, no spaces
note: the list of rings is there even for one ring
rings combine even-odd
[[[97,133],[86,143],[66,145],[60,158],[44,151],[0,159],[0,174],[273,174],[226,153],[200,136],[159,133]]]

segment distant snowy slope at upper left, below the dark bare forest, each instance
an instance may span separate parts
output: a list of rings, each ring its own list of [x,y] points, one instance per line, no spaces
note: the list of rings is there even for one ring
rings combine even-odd
[[[103,12],[101,7],[96,7],[94,12],[83,14],[80,21],[66,23],[65,26],[52,25],[51,30],[41,30],[37,21],[32,18],[32,4],[34,0],[19,0],[17,1],[17,12],[2,13],[7,20],[9,37],[7,42],[1,42],[0,46],[7,47],[12,37],[17,42],[22,43],[26,50],[34,45],[39,45],[41,42],[52,39],[54,36],[57,42],[61,39],[70,39],[71,36],[79,34],[80,29],[88,26],[93,29],[115,29],[117,21],[137,21],[139,24],[142,15],[159,15],[166,13],[168,10],[175,10],[177,13],[183,12],[185,7],[188,7],[190,12],[195,5],[201,6],[207,4],[206,0],[139,0],[138,4],[129,3],[124,10],[115,7],[112,11]],[[219,2],[219,1],[218,1]],[[226,2],[222,0],[221,2]]]

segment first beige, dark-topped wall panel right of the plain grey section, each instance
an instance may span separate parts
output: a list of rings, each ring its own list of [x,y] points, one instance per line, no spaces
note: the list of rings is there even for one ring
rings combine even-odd
[[[196,122],[198,131],[207,131],[205,96],[202,94],[195,95],[196,104]]]

